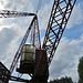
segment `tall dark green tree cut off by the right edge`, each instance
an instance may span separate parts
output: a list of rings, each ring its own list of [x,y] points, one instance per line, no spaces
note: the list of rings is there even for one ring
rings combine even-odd
[[[79,72],[79,83],[83,83],[83,56],[80,59],[77,72]]]

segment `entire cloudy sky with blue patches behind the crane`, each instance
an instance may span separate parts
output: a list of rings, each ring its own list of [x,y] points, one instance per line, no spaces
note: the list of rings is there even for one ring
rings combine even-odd
[[[38,4],[40,6],[38,8]],[[0,0],[0,10],[34,12],[39,9],[39,27],[43,41],[53,0]],[[31,18],[0,19],[0,61],[9,69]],[[83,0],[77,0],[50,65],[50,77],[71,76],[77,81],[79,59],[83,56]],[[11,83],[11,82],[10,82]]]

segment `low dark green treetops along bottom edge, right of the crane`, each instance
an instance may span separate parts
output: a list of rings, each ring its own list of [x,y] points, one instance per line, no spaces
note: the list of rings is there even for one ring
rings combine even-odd
[[[71,77],[61,77],[61,79],[56,79],[54,81],[50,81],[50,83],[73,83]]]

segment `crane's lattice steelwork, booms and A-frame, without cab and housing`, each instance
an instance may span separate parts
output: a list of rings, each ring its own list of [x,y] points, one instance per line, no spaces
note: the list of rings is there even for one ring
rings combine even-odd
[[[42,49],[46,50],[48,65],[51,64],[51,61],[55,54],[56,48],[60,43],[60,40],[61,40],[64,29],[68,24],[68,21],[70,19],[70,15],[72,13],[75,2],[76,2],[76,0],[54,0],[54,2],[53,2],[50,20],[48,23],[48,28],[46,28],[46,32],[45,32],[45,37],[44,37],[44,41],[43,41],[43,45],[42,45]],[[34,18],[32,19],[31,24],[28,28],[28,30],[23,37],[23,40],[14,55],[14,59],[10,66],[10,74],[12,74],[12,72],[20,59],[21,49],[22,49],[23,44],[25,44],[29,35],[31,35],[31,43],[33,45],[35,45],[35,48],[38,50],[41,49],[38,17],[35,13],[9,11],[9,10],[0,11],[0,18],[17,18],[17,17],[28,17],[28,15],[33,15]],[[14,76],[11,76],[10,80],[29,82],[23,79],[18,80],[18,77],[14,77]]]

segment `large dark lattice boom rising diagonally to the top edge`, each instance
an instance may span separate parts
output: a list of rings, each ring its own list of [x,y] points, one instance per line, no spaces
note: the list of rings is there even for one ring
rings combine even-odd
[[[46,50],[49,65],[54,56],[75,2],[76,0],[54,0],[42,46]]]

